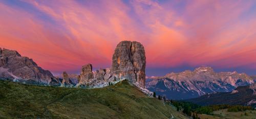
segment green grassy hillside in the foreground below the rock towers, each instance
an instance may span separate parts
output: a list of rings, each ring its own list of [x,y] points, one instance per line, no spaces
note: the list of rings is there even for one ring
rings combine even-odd
[[[97,89],[0,81],[0,118],[187,118],[127,81]]]

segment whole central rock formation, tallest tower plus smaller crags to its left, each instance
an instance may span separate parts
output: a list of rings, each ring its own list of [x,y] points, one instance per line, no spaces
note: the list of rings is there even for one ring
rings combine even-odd
[[[131,84],[137,82],[145,86],[145,51],[142,44],[136,41],[120,42],[113,55],[112,67],[92,71],[92,64],[82,67],[78,76],[79,85],[102,87],[127,79]],[[137,85],[136,84],[136,85]]]

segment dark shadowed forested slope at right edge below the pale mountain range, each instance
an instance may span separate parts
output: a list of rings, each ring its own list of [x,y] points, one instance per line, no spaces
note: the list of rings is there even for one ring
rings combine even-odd
[[[246,105],[256,107],[256,83],[250,86],[239,86],[232,92],[205,94],[199,98],[186,100],[199,105]]]

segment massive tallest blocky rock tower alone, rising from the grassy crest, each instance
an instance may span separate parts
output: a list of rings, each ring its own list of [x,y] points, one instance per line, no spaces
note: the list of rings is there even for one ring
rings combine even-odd
[[[117,79],[127,79],[145,86],[146,57],[144,47],[136,41],[121,41],[112,57],[111,73]]]

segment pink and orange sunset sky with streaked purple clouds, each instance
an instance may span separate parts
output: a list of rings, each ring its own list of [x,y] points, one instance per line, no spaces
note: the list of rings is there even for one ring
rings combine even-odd
[[[0,0],[0,47],[55,75],[111,67],[122,40],[144,45],[147,76],[199,66],[256,75],[256,1]]]

